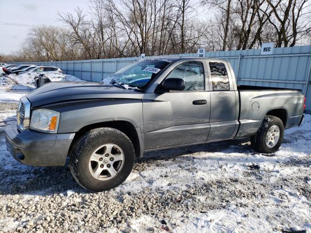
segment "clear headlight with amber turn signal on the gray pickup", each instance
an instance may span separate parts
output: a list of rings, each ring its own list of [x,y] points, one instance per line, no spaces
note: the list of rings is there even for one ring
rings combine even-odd
[[[48,109],[33,111],[30,119],[30,129],[47,133],[56,133],[59,121],[59,113]]]

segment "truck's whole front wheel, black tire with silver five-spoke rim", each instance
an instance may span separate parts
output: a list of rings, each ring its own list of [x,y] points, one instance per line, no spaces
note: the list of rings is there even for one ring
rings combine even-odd
[[[124,133],[112,128],[98,128],[75,142],[69,167],[73,178],[82,187],[101,192],[121,184],[131,173],[134,160],[133,144]]]

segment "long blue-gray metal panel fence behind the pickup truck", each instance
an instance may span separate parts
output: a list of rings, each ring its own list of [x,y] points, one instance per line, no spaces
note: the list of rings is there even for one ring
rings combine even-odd
[[[168,56],[196,57],[197,54]],[[301,89],[307,97],[306,110],[311,112],[311,46],[275,48],[272,55],[260,55],[260,50],[206,52],[206,57],[229,61],[234,69],[238,84]],[[56,66],[60,67],[65,74],[74,75],[87,81],[100,82],[138,59],[138,57],[131,57],[16,64]]]

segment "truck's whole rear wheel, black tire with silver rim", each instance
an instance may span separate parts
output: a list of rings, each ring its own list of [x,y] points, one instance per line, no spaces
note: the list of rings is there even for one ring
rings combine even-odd
[[[277,131],[279,134],[278,138]],[[282,120],[276,116],[265,116],[258,132],[251,136],[251,145],[259,153],[273,153],[281,146],[283,136],[284,125]]]

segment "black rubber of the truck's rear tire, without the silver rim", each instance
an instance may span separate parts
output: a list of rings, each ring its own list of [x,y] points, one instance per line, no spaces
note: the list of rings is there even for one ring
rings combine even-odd
[[[279,128],[279,139],[276,145],[274,145],[273,147],[268,147],[268,145],[266,144],[266,136],[268,130],[274,125],[278,126]],[[284,125],[282,120],[276,116],[265,116],[258,132],[255,135],[251,136],[251,145],[252,148],[259,153],[273,153],[276,152],[276,150],[278,150],[281,146],[283,136]]]

